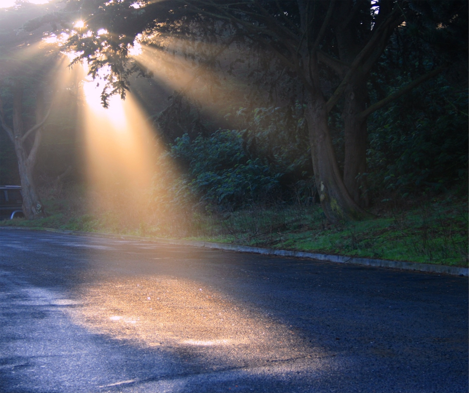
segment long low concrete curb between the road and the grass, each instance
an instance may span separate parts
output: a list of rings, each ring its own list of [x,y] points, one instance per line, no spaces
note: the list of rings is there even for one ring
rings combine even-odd
[[[280,257],[299,257],[299,258],[310,258],[318,261],[325,262],[336,262],[336,263],[347,263],[354,265],[365,265],[365,266],[376,266],[376,267],[388,267],[393,269],[402,270],[415,270],[419,272],[431,272],[431,273],[444,273],[451,274],[454,276],[469,276],[469,268],[458,267],[458,266],[446,266],[446,265],[431,265],[431,264],[420,264],[416,262],[403,262],[403,261],[389,261],[387,259],[370,259],[370,258],[357,258],[357,257],[344,257],[341,255],[331,254],[317,254],[312,252],[303,251],[288,251],[281,249],[265,249],[260,247],[250,246],[238,246],[235,244],[224,244],[215,242],[201,242],[196,240],[177,240],[177,239],[159,239],[154,237],[143,237],[143,236],[130,236],[121,234],[103,234],[98,232],[80,232],[80,231],[68,231],[63,229],[54,228],[42,228],[42,227],[5,227],[13,229],[29,229],[29,230],[42,230],[49,232],[57,232],[63,234],[78,234],[86,236],[105,237],[109,239],[122,239],[122,240],[138,240],[144,242],[154,242],[161,244],[177,244],[183,246],[194,246],[194,247],[205,247],[209,249],[223,249],[238,252],[252,252],[256,254],[264,255],[277,255]]]

